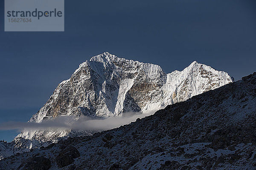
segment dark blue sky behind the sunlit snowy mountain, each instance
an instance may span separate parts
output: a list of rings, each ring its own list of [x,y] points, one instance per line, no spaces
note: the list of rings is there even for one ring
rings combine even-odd
[[[255,0],[66,0],[65,32],[4,32],[0,1],[0,123],[27,121],[93,55],[160,65],[198,61],[235,80],[256,71]],[[0,131],[11,141],[17,132]]]

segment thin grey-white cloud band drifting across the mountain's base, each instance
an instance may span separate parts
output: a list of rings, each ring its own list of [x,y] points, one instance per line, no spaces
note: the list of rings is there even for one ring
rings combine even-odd
[[[18,130],[18,131],[33,131],[33,130],[109,130],[120,127],[124,124],[129,124],[136,121],[137,118],[154,114],[156,110],[151,112],[126,112],[120,116],[108,118],[92,118],[81,115],[76,120],[73,116],[58,116],[53,120],[44,120],[41,123],[35,122],[6,122],[0,124],[0,130]]]

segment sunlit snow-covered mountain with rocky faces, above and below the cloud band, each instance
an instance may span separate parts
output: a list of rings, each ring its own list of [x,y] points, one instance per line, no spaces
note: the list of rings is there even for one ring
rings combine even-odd
[[[61,82],[46,104],[30,119],[41,123],[61,115],[114,117],[148,112],[232,82],[226,72],[194,61],[183,71],[166,74],[160,66],[118,58],[105,52],[81,63]],[[71,130],[24,131],[17,137],[48,141],[74,136]],[[90,132],[79,132],[90,135]]]

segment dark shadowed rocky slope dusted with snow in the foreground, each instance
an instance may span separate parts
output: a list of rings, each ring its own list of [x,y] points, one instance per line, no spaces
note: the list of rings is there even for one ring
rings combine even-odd
[[[256,72],[92,136],[0,160],[0,170],[256,169]]]

